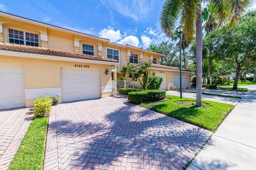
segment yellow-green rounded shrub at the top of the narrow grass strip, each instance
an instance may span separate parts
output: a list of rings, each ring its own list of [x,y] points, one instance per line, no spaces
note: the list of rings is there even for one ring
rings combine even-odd
[[[52,99],[50,97],[39,97],[35,100],[34,105],[34,116],[42,117],[45,113],[49,113],[51,111]]]

